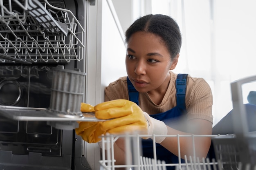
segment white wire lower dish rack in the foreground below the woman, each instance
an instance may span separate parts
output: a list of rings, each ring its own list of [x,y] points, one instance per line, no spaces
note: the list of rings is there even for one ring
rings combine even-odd
[[[178,155],[179,161],[177,163],[166,163],[158,160],[156,157],[156,148],[153,148],[153,158],[143,157],[141,151],[141,137],[146,135],[105,135],[102,137],[101,146],[101,160],[99,161],[103,170],[115,170],[124,168],[126,170],[166,170],[168,167],[174,167],[175,170],[255,170],[255,164],[243,162],[239,159],[238,146],[236,145],[235,135],[164,135],[164,137],[175,137],[178,141],[182,137],[211,137],[213,141],[214,150],[216,152],[216,159],[203,158],[199,159],[196,155],[196,150],[193,148],[193,155],[185,156],[185,162],[182,163],[180,153]],[[160,135],[153,135],[154,137]],[[124,165],[115,165],[115,155],[113,145],[119,138],[124,138],[126,150],[126,163]],[[252,144],[256,147],[256,143]],[[105,150],[105,152],[104,152]],[[180,145],[178,145],[180,152]],[[252,152],[255,152],[252,151]],[[254,155],[255,156],[255,155]],[[252,157],[254,161],[256,157]]]

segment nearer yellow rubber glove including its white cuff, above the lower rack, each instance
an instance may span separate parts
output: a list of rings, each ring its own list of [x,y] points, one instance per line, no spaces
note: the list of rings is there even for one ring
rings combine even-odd
[[[94,106],[97,119],[111,119],[101,123],[101,129],[111,134],[137,131],[142,135],[166,135],[167,127],[163,121],[150,117],[134,102],[117,99]],[[149,137],[143,137],[148,139]],[[151,137],[150,137],[151,138]],[[165,137],[155,138],[161,143]]]

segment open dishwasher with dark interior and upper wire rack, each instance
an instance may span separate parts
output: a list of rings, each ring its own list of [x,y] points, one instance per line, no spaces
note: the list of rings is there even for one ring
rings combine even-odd
[[[85,72],[84,25],[87,6],[92,4],[86,0],[1,0],[1,106],[49,108],[53,70]],[[81,142],[74,130],[46,121],[0,116],[0,169],[90,169]]]

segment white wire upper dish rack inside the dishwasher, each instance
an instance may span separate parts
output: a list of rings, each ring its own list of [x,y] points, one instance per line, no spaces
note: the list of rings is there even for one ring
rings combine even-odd
[[[84,33],[72,11],[47,0],[0,0],[0,63],[80,61]]]

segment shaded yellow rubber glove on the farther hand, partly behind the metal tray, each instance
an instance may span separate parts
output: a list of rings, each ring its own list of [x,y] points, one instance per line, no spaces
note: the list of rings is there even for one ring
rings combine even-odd
[[[81,103],[81,112],[94,112],[94,106]],[[76,134],[80,135],[84,141],[88,143],[97,143],[101,140],[99,136],[105,134],[106,131],[100,128],[102,122],[97,121],[80,121],[79,127],[75,129]]]

